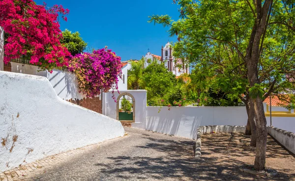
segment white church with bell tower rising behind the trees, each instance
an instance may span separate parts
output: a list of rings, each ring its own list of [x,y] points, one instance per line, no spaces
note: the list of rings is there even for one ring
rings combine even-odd
[[[165,67],[173,72],[174,75],[179,76],[181,74],[187,73],[189,74],[189,66],[187,63],[183,63],[181,59],[176,59],[173,56],[173,49],[171,44],[168,42],[165,47],[162,46],[161,56],[157,56],[148,52],[145,55],[145,67],[147,67],[151,61],[157,60],[159,63],[164,62]]]

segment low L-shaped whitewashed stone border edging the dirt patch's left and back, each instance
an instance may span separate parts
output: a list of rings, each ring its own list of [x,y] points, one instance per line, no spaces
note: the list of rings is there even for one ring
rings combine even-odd
[[[202,155],[201,137],[203,134],[210,133],[244,133],[246,126],[229,126],[229,125],[214,125],[214,126],[200,126],[197,131],[195,158],[200,158]]]

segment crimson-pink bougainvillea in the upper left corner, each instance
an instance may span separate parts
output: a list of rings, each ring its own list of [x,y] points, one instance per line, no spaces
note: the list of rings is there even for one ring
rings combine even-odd
[[[60,44],[59,15],[69,13],[61,5],[47,8],[33,0],[0,0],[0,26],[5,32],[4,63],[26,57],[42,69],[67,66],[70,53]]]

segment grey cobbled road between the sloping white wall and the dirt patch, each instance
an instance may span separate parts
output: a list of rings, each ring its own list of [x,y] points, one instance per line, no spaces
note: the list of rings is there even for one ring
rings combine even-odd
[[[124,128],[128,136],[77,153],[66,152],[58,158],[62,159],[59,162],[50,163],[46,159],[41,171],[31,171],[20,178],[28,181],[192,180],[196,166],[194,140]]]

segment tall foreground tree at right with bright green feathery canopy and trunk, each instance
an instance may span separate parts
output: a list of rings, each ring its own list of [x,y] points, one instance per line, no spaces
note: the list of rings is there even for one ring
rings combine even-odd
[[[294,89],[286,75],[294,76],[295,0],[174,1],[180,5],[181,19],[173,22],[168,15],[154,15],[151,21],[171,26],[171,35],[178,36],[188,60],[197,60],[207,54],[206,48],[218,44],[235,55],[228,65],[235,62],[232,73],[245,71],[239,75],[248,80],[246,99],[254,107],[257,126],[254,167],[264,169],[267,132],[263,100],[272,92]]]

